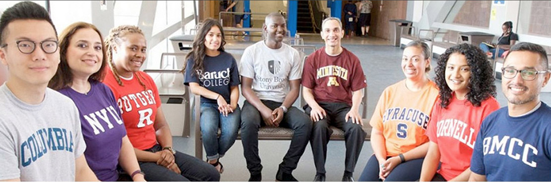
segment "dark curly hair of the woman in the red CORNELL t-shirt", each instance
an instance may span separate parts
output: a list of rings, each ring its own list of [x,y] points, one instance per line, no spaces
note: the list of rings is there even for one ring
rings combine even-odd
[[[440,93],[440,106],[447,108],[452,97],[452,90],[446,84],[446,64],[451,54],[460,53],[467,59],[467,64],[471,67],[471,78],[467,88],[469,92],[465,96],[473,106],[480,106],[482,101],[490,96],[495,97],[495,78],[490,62],[486,59],[484,52],[477,46],[467,43],[462,43],[446,49],[444,54],[440,56],[438,65],[435,69],[436,76],[434,78]]]

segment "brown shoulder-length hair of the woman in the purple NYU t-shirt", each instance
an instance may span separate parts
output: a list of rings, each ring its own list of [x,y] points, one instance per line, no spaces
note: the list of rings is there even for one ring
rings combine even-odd
[[[63,87],[69,86],[73,83],[73,73],[71,72],[71,68],[69,67],[69,64],[67,63],[67,49],[69,48],[69,44],[71,44],[71,39],[73,38],[73,35],[80,29],[92,29],[95,32],[98,33],[101,40],[101,52],[103,53],[103,57],[101,58],[101,66],[96,73],[90,75],[89,80],[95,80],[98,82],[103,81],[105,77],[105,65],[106,65],[106,59],[105,59],[105,43],[103,41],[103,37],[101,36],[100,31],[96,26],[84,23],[84,22],[77,22],[73,23],[63,32],[61,32],[60,35],[60,66],[57,67],[57,72],[55,75],[53,75],[53,78],[48,83],[48,87],[50,87],[53,90],[60,90],[63,89]]]

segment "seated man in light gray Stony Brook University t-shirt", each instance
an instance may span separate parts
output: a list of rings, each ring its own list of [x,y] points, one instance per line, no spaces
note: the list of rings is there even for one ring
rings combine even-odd
[[[241,109],[241,141],[249,181],[262,180],[258,156],[258,129],[282,126],[294,130],[293,139],[276,179],[296,181],[291,174],[310,139],[312,122],[291,105],[299,96],[302,64],[299,52],[282,43],[287,24],[282,15],[271,13],[263,25],[266,40],[245,49],[241,57],[241,89],[246,101]]]

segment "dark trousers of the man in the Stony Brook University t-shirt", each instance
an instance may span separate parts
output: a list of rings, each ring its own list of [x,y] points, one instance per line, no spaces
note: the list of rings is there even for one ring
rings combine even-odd
[[[281,106],[281,102],[262,100],[262,103],[268,108],[274,110]],[[264,126],[262,115],[252,106],[251,103],[245,101],[241,109],[241,142],[243,143],[244,156],[247,161],[247,169],[251,175],[260,174],[262,172],[262,164],[258,156],[258,129]],[[310,118],[302,113],[296,107],[290,107],[283,115],[283,120],[279,124],[280,127],[293,129],[293,139],[283,162],[279,164],[279,169],[285,173],[291,173],[296,169],[299,159],[304,153],[310,132],[312,130],[312,122]]]

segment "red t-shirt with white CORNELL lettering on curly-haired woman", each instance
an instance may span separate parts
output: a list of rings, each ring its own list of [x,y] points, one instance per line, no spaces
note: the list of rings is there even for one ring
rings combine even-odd
[[[450,104],[442,108],[440,100],[434,104],[426,135],[438,144],[440,162],[438,171],[447,181],[457,177],[471,166],[474,141],[480,124],[491,112],[499,109],[494,97],[487,98],[474,107],[467,100],[458,100],[452,94]]]

